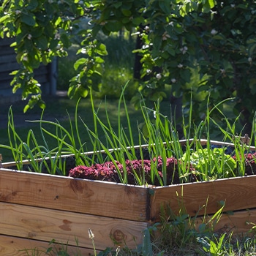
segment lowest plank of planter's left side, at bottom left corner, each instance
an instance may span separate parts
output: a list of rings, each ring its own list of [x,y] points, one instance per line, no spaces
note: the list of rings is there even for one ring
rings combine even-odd
[[[28,256],[33,255],[33,252],[34,255],[37,255],[37,252],[39,253],[38,255],[47,255],[42,254],[42,252],[45,252],[50,246],[53,247],[53,252],[59,252],[62,249],[61,244],[49,245],[48,242],[0,235],[0,255],[4,256]],[[92,249],[78,249],[77,246],[67,246],[67,253],[69,255],[75,255],[75,252],[80,252],[80,255],[83,256],[94,255]]]

